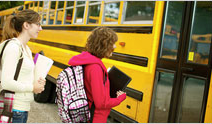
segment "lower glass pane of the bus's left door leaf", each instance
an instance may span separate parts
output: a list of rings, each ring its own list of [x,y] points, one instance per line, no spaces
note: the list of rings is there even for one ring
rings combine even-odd
[[[154,95],[151,107],[151,123],[167,123],[174,84],[174,73],[156,72]]]

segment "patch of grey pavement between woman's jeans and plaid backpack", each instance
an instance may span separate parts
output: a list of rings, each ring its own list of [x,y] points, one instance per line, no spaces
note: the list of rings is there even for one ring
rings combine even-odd
[[[62,123],[57,114],[57,104],[33,101],[27,123]]]

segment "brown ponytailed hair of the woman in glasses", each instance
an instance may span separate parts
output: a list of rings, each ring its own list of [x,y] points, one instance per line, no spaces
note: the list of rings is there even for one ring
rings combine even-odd
[[[40,16],[37,12],[27,9],[18,12],[16,15],[10,15],[5,22],[2,31],[2,41],[18,37],[19,33],[22,32],[22,26],[24,22],[29,24],[37,23],[40,21]]]

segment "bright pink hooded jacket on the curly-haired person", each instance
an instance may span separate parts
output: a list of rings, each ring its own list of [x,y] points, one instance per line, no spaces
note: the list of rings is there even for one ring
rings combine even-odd
[[[84,84],[89,108],[93,102],[95,105],[93,123],[106,123],[111,108],[125,100],[126,94],[122,94],[118,98],[110,98],[110,81],[107,69],[101,59],[89,52],[82,52],[72,57],[68,64],[72,66],[84,65]],[[107,80],[104,84],[105,74]]]

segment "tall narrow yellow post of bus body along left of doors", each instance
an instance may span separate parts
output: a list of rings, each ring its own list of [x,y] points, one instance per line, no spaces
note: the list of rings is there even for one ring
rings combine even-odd
[[[150,82],[147,85],[144,85],[144,93],[143,101],[138,103],[137,109],[137,116],[136,121],[140,123],[148,123],[151,102],[152,102],[152,94],[153,94],[153,86],[155,81],[155,72],[156,72],[156,63],[157,63],[157,56],[158,56],[158,48],[160,42],[160,34],[162,29],[162,21],[163,21],[163,11],[164,11],[164,1],[158,1],[155,7],[155,15],[154,16],[154,24],[153,24],[153,43],[152,48],[152,55],[150,57],[149,65],[149,74],[147,75],[146,82]]]

